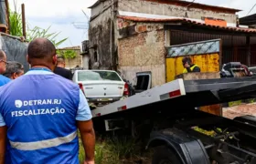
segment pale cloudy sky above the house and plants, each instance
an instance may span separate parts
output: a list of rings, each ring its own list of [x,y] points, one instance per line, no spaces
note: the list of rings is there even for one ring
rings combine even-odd
[[[14,9],[14,0],[9,0],[11,9]],[[192,0],[187,0],[192,1]],[[96,0],[16,0],[16,6],[25,4],[26,21],[29,28],[39,26],[48,28],[50,32],[60,32],[58,40],[69,37],[69,40],[59,47],[80,46],[83,40],[88,38],[87,29],[88,15],[91,10],[89,6]],[[238,13],[240,16],[247,15],[251,7],[255,4],[251,0],[195,0],[196,3],[219,5],[243,10]],[[82,10],[86,13],[83,14]],[[21,11],[20,7],[18,11]],[[251,14],[256,13],[256,6]]]

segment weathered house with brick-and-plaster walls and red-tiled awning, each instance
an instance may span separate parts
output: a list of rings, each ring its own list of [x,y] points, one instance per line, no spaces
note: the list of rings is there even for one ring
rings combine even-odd
[[[251,65],[253,37],[247,36],[255,31],[238,25],[239,11],[187,1],[98,1],[91,6],[91,65],[117,69],[133,84],[137,72],[151,71],[155,87],[167,81],[167,46],[217,38],[224,47],[219,64]]]

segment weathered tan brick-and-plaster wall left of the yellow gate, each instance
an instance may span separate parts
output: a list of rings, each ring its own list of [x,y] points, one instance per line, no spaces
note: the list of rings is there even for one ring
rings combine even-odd
[[[160,25],[135,26],[136,35],[118,41],[119,71],[136,84],[136,72],[151,71],[152,86],[165,83],[165,31]],[[158,28],[157,30],[152,28]]]

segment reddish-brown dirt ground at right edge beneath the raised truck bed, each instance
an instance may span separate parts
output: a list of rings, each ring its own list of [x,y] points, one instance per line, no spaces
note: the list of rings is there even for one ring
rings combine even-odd
[[[256,117],[256,103],[241,104],[235,107],[223,108],[223,117],[236,118],[245,115],[252,115]]]

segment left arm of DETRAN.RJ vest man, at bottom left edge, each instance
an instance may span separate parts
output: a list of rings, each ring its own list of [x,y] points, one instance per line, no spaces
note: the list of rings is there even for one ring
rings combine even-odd
[[[0,164],[5,163],[6,133],[5,120],[0,114]]]

